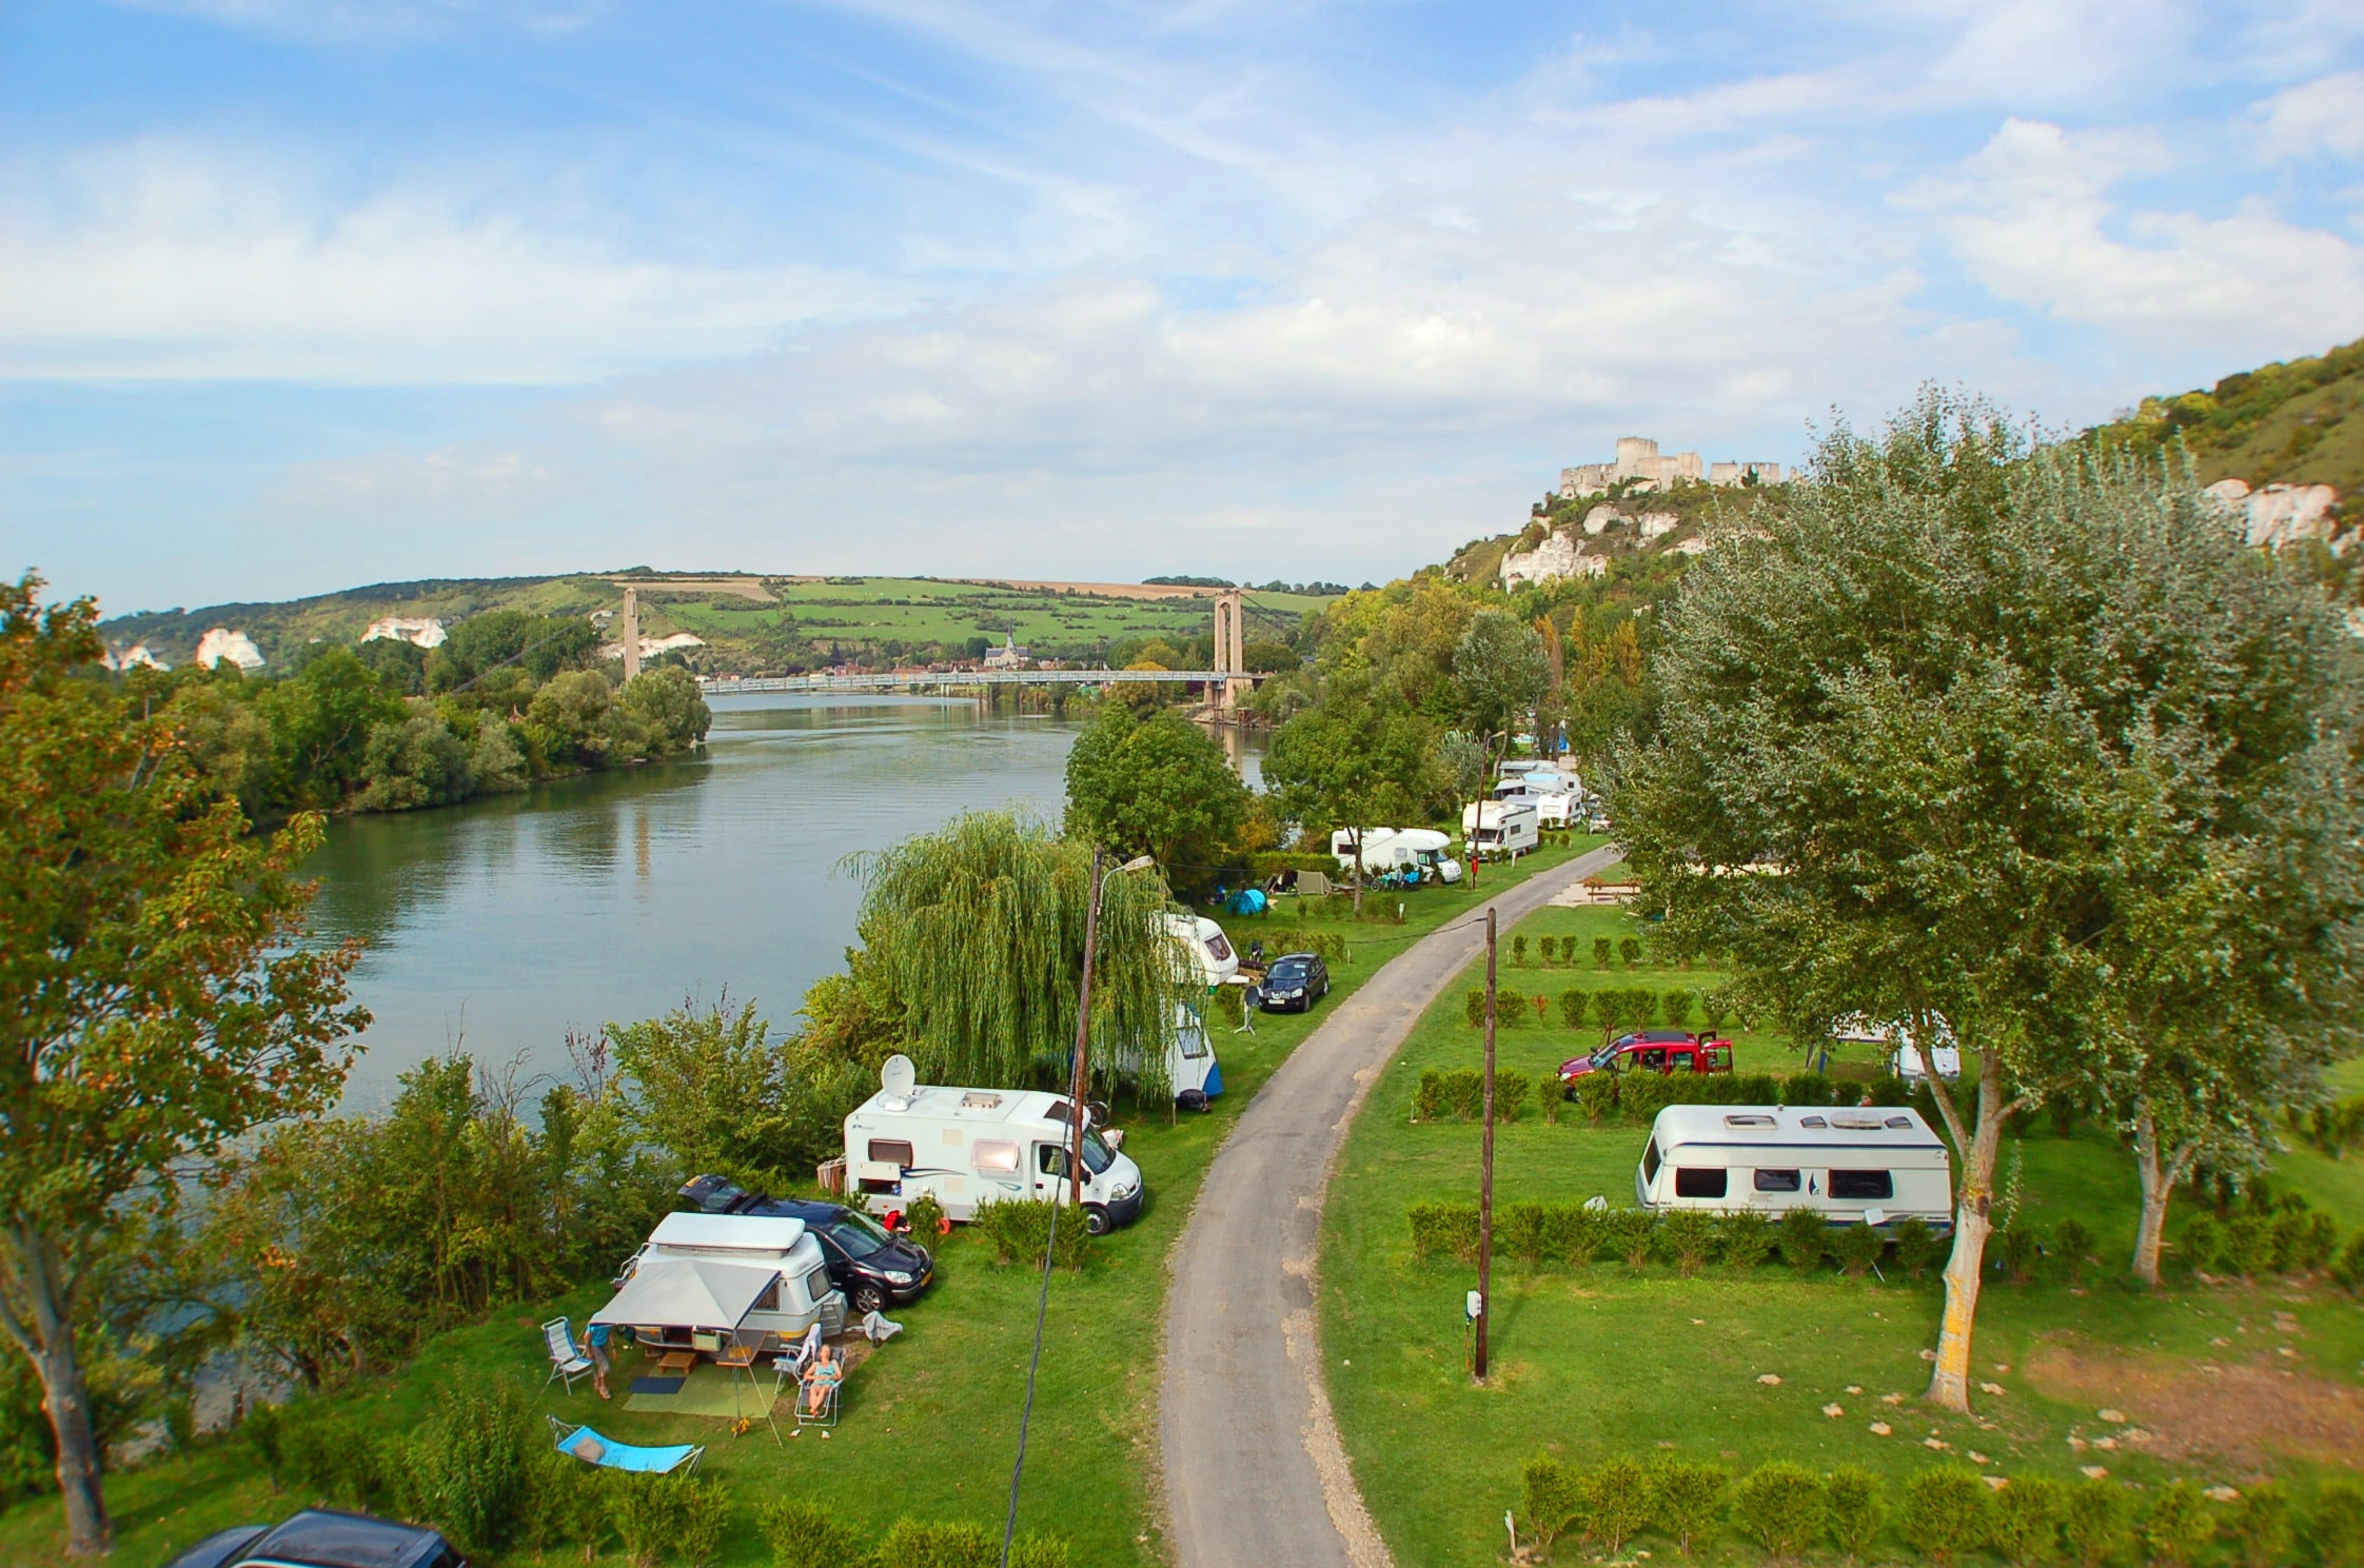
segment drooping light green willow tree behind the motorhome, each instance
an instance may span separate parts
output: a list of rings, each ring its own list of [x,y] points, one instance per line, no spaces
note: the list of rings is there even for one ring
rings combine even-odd
[[[1092,845],[1012,812],[969,812],[863,855],[860,973],[903,1013],[922,1082],[1017,1086],[1076,1041]],[[1173,1093],[1165,1053],[1187,949],[1165,878],[1109,867],[1092,973],[1092,1089]]]

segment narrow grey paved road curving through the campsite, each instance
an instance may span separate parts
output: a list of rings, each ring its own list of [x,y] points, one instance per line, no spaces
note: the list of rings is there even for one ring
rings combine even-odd
[[[1508,928],[1615,860],[1591,850],[1492,907]],[[1480,952],[1482,904],[1371,975],[1265,1082],[1199,1188],[1165,1299],[1161,1440],[1182,1568],[1388,1566],[1321,1379],[1321,1197],[1371,1079]]]

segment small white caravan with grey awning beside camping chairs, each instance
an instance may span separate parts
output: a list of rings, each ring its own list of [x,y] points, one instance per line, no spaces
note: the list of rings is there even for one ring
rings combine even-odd
[[[778,1351],[816,1322],[823,1334],[846,1327],[846,1296],[801,1219],[667,1214],[615,1285],[591,1320],[631,1327],[641,1344],[716,1351],[735,1337]]]

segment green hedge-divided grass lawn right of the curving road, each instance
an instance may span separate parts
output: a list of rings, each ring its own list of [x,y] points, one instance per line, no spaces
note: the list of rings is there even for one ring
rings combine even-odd
[[[1546,930],[1579,937],[1579,968],[1504,968],[1506,989],[1674,989],[1719,980],[1678,968],[1593,971],[1591,935],[1634,930],[1615,909],[1539,912],[1518,928],[1530,937],[1530,956]],[[1837,1273],[1799,1280],[1778,1261],[1754,1270],[1712,1266],[1681,1278],[1657,1263],[1636,1275],[1610,1259],[1582,1270],[1496,1259],[1494,1377],[1475,1389],[1466,1374],[1461,1313],[1475,1270],[1411,1259],[1404,1214],[1421,1200],[1470,1202],[1478,1195],[1478,1126],[1414,1124],[1411,1091],[1423,1067],[1478,1065],[1480,1032],[1463,1023],[1461,992],[1480,982],[1482,971],[1473,968],[1442,997],[1373,1084],[1324,1214],[1321,1346],[1331,1403],[1362,1495],[1399,1568],[1501,1561],[1504,1509],[1518,1504],[1520,1464],[1539,1450],[1584,1464],[1615,1452],[1648,1459],[1674,1448],[1735,1474],[1764,1459],[1816,1469],[1863,1464],[1894,1488],[1929,1464],[1962,1462],[1969,1452],[1988,1459],[1988,1474],[2040,1471],[2073,1481],[2078,1466],[2102,1462],[2135,1483],[2173,1474],[2241,1481],[2258,1464],[2305,1483],[2326,1459],[2317,1438],[2305,1438],[2317,1443],[2307,1455],[2274,1452],[2274,1433],[2286,1419],[2281,1403],[2291,1400],[2291,1412],[2305,1403],[2298,1391],[2312,1398],[2333,1389],[2326,1393],[2333,1403],[2355,1398],[2364,1360],[2364,1313],[2355,1301],[2326,1287],[2281,1282],[2156,1294],[2118,1285],[2118,1259],[2132,1244],[2137,1214],[2132,1157],[2106,1131],[2059,1138],[2042,1119],[2019,1138],[2024,1216],[2050,1233],[2076,1214],[2099,1233],[2106,1263],[2083,1287],[2071,1287],[2052,1259],[2033,1285],[1986,1289],[1974,1367],[2002,1393],[1976,1398],[1979,1419],[1938,1415],[1920,1400],[1929,1377],[1922,1351],[1936,1344],[1941,1308],[1934,1275],[1920,1285]],[[1570,1034],[1558,1023],[1544,1030],[1530,1023],[1499,1034],[1499,1060],[1548,1074],[1593,1041],[1591,1027]],[[1872,1051],[1858,1048],[1858,1056],[1870,1060]],[[1794,1072],[1799,1065],[1790,1051],[1752,1034],[1738,1037],[1735,1058],[1742,1072]],[[1634,1124],[1589,1126],[1574,1108],[1551,1126],[1530,1100],[1518,1122],[1499,1129],[1496,1204],[1596,1193],[1610,1204],[1631,1204],[1643,1138],[1645,1129]],[[2364,1162],[2303,1152],[2284,1159],[2277,1178],[2333,1211],[2343,1233],[2364,1223]],[[2298,1327],[2274,1329],[2274,1313],[2293,1313]],[[2293,1355],[2279,1355],[2281,1346]],[[2203,1363],[2229,1370],[2232,1381],[2201,1384],[2213,1377],[2201,1372]],[[2284,1372],[2321,1384],[2284,1379]],[[1761,1374],[1780,1381],[1761,1384]],[[1903,1400],[1886,1405],[1886,1393]],[[2118,1431],[2097,1419],[2099,1407],[2116,1403],[2137,1422],[2154,1422],[2173,1443],[2191,1443],[2191,1452],[2158,1457],[2123,1443],[2073,1450],[2071,1436],[2092,1440]],[[1839,1405],[1842,1415],[1823,1415],[1825,1405]],[[2355,1405],[2347,1410],[2352,1415]],[[1891,1426],[1889,1436],[1870,1431],[1879,1419]],[[2295,1415],[2288,1419],[2298,1424]],[[2345,1431],[2350,1438],[2333,1440],[2355,1440],[2357,1429]],[[1950,1448],[1924,1448],[1931,1436]],[[2217,1452],[2206,1452],[2208,1443]],[[2345,1462],[2359,1459],[2364,1443],[2345,1452]],[[1660,1556],[1674,1551],[1671,1542],[1643,1544]],[[1726,1537],[1709,1556],[1754,1561],[1738,1537]],[[1560,1547],[1560,1561],[1577,1561],[1574,1542]]]

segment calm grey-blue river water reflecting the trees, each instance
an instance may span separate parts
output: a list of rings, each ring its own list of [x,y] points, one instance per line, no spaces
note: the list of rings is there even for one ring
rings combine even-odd
[[[461,1044],[563,1077],[570,1027],[726,987],[785,1032],[853,940],[846,855],[962,810],[1054,822],[1073,739],[967,701],[716,699],[702,758],[336,822],[314,926],[369,942],[355,997],[376,1018],[348,1100],[378,1108]]]

